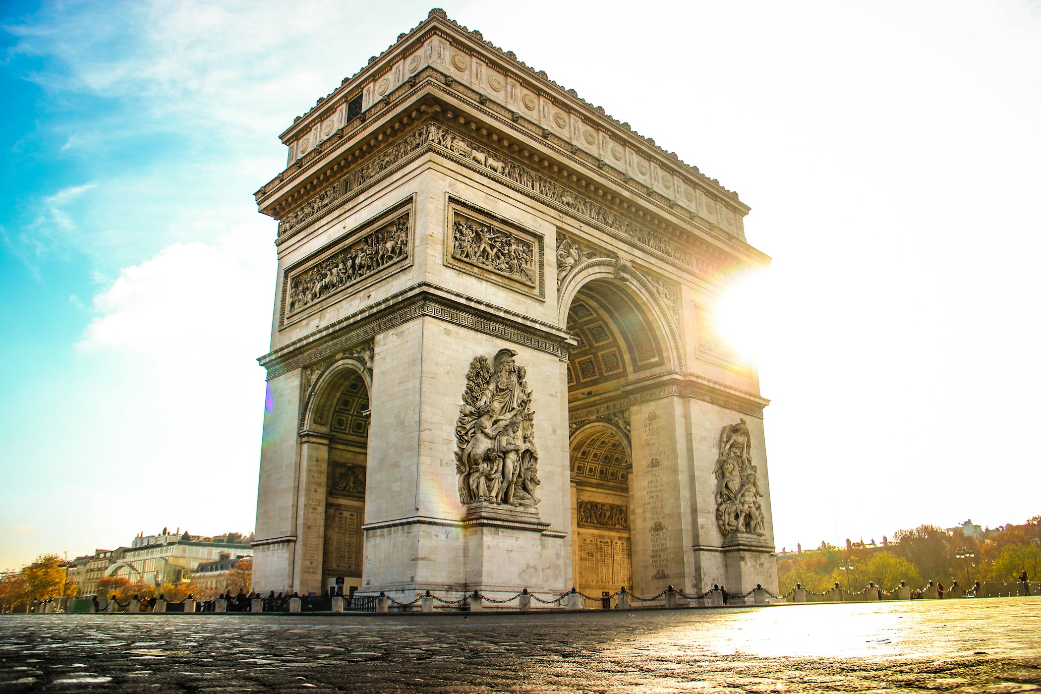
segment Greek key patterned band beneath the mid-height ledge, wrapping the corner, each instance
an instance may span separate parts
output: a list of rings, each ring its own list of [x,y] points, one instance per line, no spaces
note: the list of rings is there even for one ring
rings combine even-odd
[[[540,352],[552,354],[559,359],[567,359],[567,348],[559,339],[551,339],[534,330],[525,330],[516,325],[508,325],[482,315],[480,312],[463,304],[457,304],[442,297],[417,297],[396,304],[387,311],[359,320],[353,329],[338,331],[336,337],[321,341],[313,346],[302,346],[283,358],[260,357],[257,361],[268,369],[268,378],[273,379],[294,368],[301,368],[322,361],[348,349],[371,340],[375,335],[413,320],[420,316],[429,315],[447,320],[458,326],[464,326],[486,335],[524,344]]]

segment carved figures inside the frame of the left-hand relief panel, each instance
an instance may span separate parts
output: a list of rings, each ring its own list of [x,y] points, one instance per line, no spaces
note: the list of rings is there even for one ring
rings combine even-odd
[[[408,254],[408,215],[334,253],[289,283],[288,310],[295,311]]]

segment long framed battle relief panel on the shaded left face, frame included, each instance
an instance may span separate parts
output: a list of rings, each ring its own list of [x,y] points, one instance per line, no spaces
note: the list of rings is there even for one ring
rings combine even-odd
[[[360,288],[409,265],[412,198],[409,197],[285,271],[281,324],[352,287]],[[391,269],[392,268],[392,269]],[[350,292],[347,292],[350,293]]]

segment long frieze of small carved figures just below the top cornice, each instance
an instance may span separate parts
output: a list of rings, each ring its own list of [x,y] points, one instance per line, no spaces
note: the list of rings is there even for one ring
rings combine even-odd
[[[323,188],[303,205],[288,212],[279,221],[279,237],[318,219],[320,212],[341,205],[377,177],[389,172],[412,155],[432,147],[461,159],[468,166],[501,177],[510,187],[528,195],[541,196],[555,206],[580,215],[582,221],[600,225],[620,238],[636,243],[655,255],[672,260],[699,275],[720,282],[730,279],[729,268],[694,254],[676,241],[594,202],[560,181],[530,171],[501,151],[484,145],[475,145],[447,126],[434,122],[413,128],[398,143],[356,164],[338,181]]]

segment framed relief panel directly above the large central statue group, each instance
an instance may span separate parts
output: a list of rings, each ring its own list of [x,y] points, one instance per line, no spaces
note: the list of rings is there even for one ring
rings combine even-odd
[[[541,234],[449,198],[445,262],[511,289],[545,297]]]

